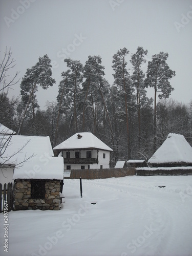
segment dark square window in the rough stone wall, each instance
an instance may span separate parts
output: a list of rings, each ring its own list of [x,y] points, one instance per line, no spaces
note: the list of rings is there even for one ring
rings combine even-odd
[[[45,180],[32,180],[31,181],[31,198],[45,199],[45,194],[46,194]]]

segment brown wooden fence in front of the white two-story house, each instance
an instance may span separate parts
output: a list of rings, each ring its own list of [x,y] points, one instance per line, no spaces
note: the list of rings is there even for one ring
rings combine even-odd
[[[78,169],[71,170],[71,176],[65,179],[106,179],[135,175],[135,168],[114,168],[114,169]]]

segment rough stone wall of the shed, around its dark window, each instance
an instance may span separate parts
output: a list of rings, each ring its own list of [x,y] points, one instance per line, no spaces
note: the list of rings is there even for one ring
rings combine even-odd
[[[31,199],[31,181],[15,180],[14,210],[59,210],[60,181],[46,180],[45,199]]]

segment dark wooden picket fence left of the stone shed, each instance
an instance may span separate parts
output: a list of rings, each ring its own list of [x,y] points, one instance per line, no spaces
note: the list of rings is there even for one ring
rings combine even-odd
[[[4,212],[4,209],[11,211],[13,210],[13,184],[8,183],[4,184],[4,186],[0,183],[0,212]]]

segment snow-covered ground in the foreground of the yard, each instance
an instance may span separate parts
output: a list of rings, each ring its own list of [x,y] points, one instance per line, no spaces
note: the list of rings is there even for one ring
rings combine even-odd
[[[81,198],[79,180],[65,180],[60,211],[9,212],[8,252],[0,214],[0,255],[192,255],[192,176],[82,180],[82,189]]]

